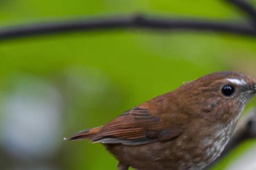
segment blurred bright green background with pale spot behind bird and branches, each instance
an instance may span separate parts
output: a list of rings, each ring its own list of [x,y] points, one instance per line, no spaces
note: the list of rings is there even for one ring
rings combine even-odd
[[[0,0],[0,26],[137,12],[245,21],[220,0]],[[142,29],[0,42],[1,169],[115,169],[117,161],[103,146],[63,138],[214,71],[256,78],[255,42],[220,33]],[[214,169],[225,169],[254,144],[243,143]]]

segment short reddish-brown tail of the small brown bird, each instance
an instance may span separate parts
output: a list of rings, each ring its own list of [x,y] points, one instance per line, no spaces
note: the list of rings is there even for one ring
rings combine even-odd
[[[74,134],[71,138],[69,138],[69,140],[77,141],[82,139],[91,139],[96,133],[98,133],[98,131],[100,131],[100,129],[101,129],[101,126],[79,131],[78,133]]]

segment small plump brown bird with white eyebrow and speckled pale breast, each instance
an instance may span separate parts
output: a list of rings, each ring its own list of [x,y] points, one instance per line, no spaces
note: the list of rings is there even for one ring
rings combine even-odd
[[[231,71],[212,73],[138,105],[71,141],[102,143],[118,169],[203,169],[224,150],[255,80]]]

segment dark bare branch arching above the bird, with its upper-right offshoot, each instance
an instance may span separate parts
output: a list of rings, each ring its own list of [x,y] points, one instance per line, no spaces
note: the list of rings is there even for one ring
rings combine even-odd
[[[216,22],[199,19],[180,19],[180,18],[156,18],[152,16],[133,15],[113,18],[98,19],[77,19],[66,22],[52,22],[39,24],[26,24],[0,29],[0,41],[17,39],[19,37],[51,35],[56,33],[67,33],[76,31],[107,31],[109,29],[160,29],[172,30],[192,30],[192,31],[211,31],[230,33],[233,35],[243,35],[256,37],[255,9],[242,0],[225,0],[236,5],[249,15],[253,20],[251,23],[230,23]]]

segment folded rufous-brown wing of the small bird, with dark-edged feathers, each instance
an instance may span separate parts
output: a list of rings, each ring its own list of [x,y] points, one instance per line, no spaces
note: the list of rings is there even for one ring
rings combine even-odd
[[[135,107],[103,126],[92,141],[143,145],[176,138],[182,133],[183,127],[175,124],[175,120],[171,123],[164,121],[166,118],[162,115],[164,114],[154,116],[146,108]],[[184,119],[184,116],[181,119]]]

